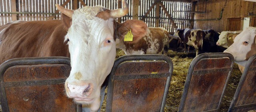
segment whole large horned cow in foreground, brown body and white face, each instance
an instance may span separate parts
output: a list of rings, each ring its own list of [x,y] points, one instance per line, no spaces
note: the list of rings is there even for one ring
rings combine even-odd
[[[115,40],[121,42],[118,36],[131,30],[133,41],[126,43],[136,45],[148,30],[147,25],[139,20],[116,22],[114,18],[128,13],[125,0],[122,4],[123,8],[116,10],[102,6],[68,10],[56,5],[62,12],[62,20],[1,26],[0,64],[20,57],[70,57],[72,69],[65,83],[66,94],[75,102],[88,105],[91,111],[97,111],[101,85],[114,64],[116,44],[120,44]]]

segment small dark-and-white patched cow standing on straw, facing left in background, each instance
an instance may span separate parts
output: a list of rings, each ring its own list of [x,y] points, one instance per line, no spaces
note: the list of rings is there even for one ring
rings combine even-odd
[[[179,37],[182,40],[184,43],[185,52],[186,44],[188,46],[193,46],[196,49],[196,56],[198,55],[199,49],[202,50],[205,33],[201,29],[177,29],[173,36]]]

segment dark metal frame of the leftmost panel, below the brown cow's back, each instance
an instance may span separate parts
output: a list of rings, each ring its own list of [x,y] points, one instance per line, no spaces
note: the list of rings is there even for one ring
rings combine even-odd
[[[70,66],[70,58],[66,57],[46,57],[46,58],[14,58],[7,60],[0,65],[0,102],[3,112],[9,112],[8,101],[6,98],[5,87],[15,86],[15,85],[46,85],[46,84],[61,84],[65,83],[65,79],[57,80],[42,80],[42,81],[20,81],[20,82],[3,82],[4,72],[13,66],[20,65],[38,65],[38,64],[67,64]],[[76,106],[77,112],[82,112],[82,106]]]

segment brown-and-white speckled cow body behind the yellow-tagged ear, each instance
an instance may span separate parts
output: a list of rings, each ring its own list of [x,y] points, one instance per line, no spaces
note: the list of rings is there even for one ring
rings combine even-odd
[[[128,20],[129,21],[129,20]],[[119,43],[116,44],[117,48],[124,50],[126,55],[132,54],[164,54],[168,50],[168,36],[169,33],[164,28],[160,27],[149,27],[147,34],[138,40],[136,43],[127,43],[124,40],[123,35],[118,35]]]

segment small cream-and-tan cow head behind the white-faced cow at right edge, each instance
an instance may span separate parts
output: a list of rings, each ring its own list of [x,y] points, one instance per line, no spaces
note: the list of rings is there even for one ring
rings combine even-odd
[[[234,43],[234,38],[240,34],[241,31],[223,31],[219,36],[218,41],[216,42],[216,45],[222,46],[224,48],[228,48],[231,44]]]

